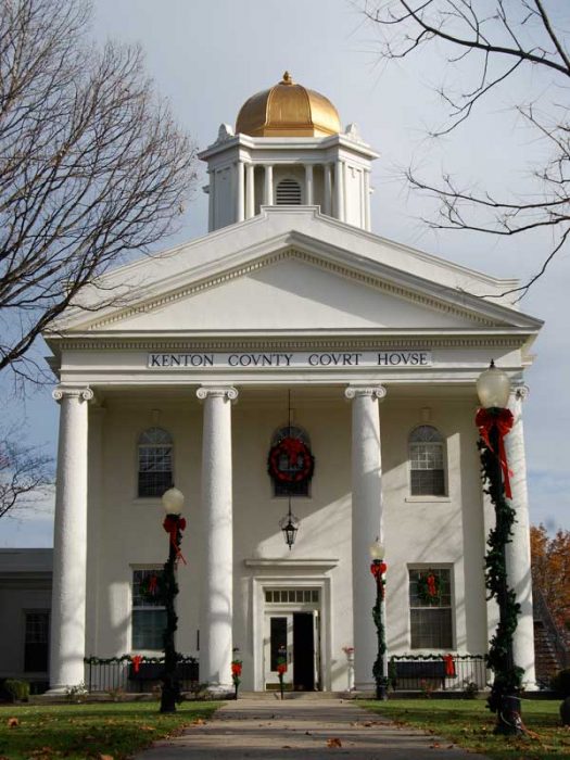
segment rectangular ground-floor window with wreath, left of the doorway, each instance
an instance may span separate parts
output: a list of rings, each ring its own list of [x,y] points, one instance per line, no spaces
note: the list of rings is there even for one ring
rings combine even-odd
[[[162,599],[152,598],[148,590],[157,582],[162,570],[132,571],[132,649],[162,649],[166,610]]]

